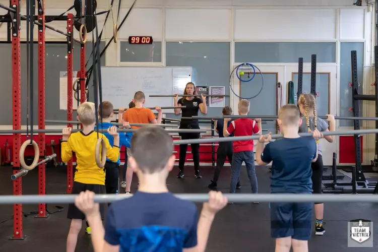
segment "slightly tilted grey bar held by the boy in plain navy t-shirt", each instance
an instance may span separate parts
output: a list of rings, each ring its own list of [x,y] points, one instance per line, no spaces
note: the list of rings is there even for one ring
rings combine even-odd
[[[325,131],[322,132],[323,136],[348,136],[348,135],[360,135],[360,134],[377,134],[378,129],[373,130],[355,130],[355,131]],[[312,133],[299,133],[301,137],[312,137]],[[233,141],[245,141],[245,140],[258,140],[261,135],[254,136],[242,136],[232,138],[201,138],[201,139],[186,139],[186,140],[174,140],[174,145],[180,144],[204,144],[204,143],[220,143],[220,142],[233,142]],[[272,139],[283,138],[283,135],[272,135]]]

